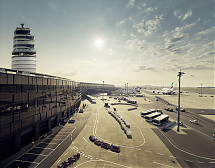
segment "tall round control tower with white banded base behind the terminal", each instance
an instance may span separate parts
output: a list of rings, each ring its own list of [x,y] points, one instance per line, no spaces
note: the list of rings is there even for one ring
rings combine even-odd
[[[36,72],[36,50],[34,49],[34,36],[31,29],[24,24],[17,27],[13,37],[11,68],[19,71]]]

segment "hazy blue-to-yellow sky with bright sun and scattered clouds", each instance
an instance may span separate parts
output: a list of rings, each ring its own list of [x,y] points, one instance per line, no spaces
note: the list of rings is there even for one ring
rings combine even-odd
[[[214,0],[0,0],[0,67],[13,32],[35,35],[37,72],[76,81],[214,86]]]

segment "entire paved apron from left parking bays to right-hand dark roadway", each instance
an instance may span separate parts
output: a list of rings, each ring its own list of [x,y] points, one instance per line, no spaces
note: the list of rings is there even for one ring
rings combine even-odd
[[[130,111],[128,109],[133,106],[125,104],[105,108],[105,102],[117,102],[113,98],[102,101],[101,97],[95,97],[97,104],[82,102],[87,107],[84,113],[77,113],[71,118],[75,123],[67,123],[10,166],[56,168],[69,157],[81,153],[74,167],[215,167],[214,123],[199,117],[198,112],[181,113],[184,125],[180,127],[180,132],[177,132],[176,125],[162,131],[140,117],[140,112],[151,108],[164,111],[165,104],[155,101],[155,95],[145,95],[146,98],[130,98],[138,102],[138,108]],[[108,114],[113,107],[130,123],[132,139],[126,137],[118,122]],[[176,112],[164,113],[170,116],[170,121],[177,121]],[[190,119],[197,119],[199,124],[190,123]],[[119,145],[121,152],[96,146],[89,140],[90,135]]]

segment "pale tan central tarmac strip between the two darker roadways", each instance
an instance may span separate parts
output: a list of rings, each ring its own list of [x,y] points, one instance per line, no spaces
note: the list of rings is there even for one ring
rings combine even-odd
[[[85,128],[52,165],[53,168],[77,153],[81,154],[81,158],[74,167],[181,167],[152,130],[155,126],[148,124],[140,117],[140,111],[146,110],[144,106],[150,104],[150,100],[135,97],[141,108],[132,111],[128,111],[132,108],[130,105],[114,105],[105,108],[105,102],[109,104],[117,102],[113,98],[104,102],[101,98],[95,98],[95,100],[97,104],[84,102],[87,104],[84,113],[76,114],[81,116],[92,113]],[[117,113],[130,123],[132,139],[126,137],[119,123],[108,114],[109,110],[113,111],[113,107],[116,107]],[[120,153],[95,145],[89,140],[90,135],[109,144],[120,146]]]

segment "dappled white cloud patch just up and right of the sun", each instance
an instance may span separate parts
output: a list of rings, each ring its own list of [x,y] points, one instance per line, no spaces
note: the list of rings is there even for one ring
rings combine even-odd
[[[144,33],[145,36],[148,36],[157,31],[162,20],[163,15],[157,15],[155,16],[155,19],[147,21],[143,19],[139,23],[134,23],[133,27],[137,29],[137,32]]]

